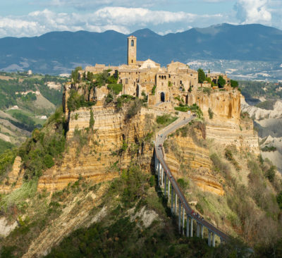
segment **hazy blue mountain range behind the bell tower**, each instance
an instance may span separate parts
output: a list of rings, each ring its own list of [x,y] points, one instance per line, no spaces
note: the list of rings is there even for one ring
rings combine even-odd
[[[227,59],[281,61],[282,31],[264,25],[213,25],[185,32],[158,35],[144,29],[137,37],[137,59]],[[128,35],[109,30],[97,32],[49,32],[40,37],[0,39],[0,70],[27,70],[59,74],[78,65],[118,65],[126,62]]]

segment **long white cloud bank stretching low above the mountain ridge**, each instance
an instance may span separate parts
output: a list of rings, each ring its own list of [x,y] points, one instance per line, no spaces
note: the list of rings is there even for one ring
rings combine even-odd
[[[61,1],[61,0],[60,0]],[[151,11],[147,8],[104,7],[90,13],[56,13],[49,9],[34,11],[27,16],[0,17],[0,37],[32,37],[50,31],[89,30],[103,32],[116,30],[129,34],[142,27],[164,26],[162,30],[176,32],[190,27],[197,20],[221,20],[221,14],[197,15],[193,13]],[[175,29],[171,29],[173,27]],[[166,28],[165,26],[168,26]]]

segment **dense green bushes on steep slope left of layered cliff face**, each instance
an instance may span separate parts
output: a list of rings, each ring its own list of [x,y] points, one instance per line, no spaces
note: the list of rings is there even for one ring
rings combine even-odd
[[[47,130],[48,125],[54,126],[56,130]],[[47,126],[41,130],[35,129],[32,137],[18,151],[25,168],[25,180],[39,178],[42,171],[54,165],[54,160],[61,158],[65,149],[66,118],[63,116],[62,107],[49,118]]]

